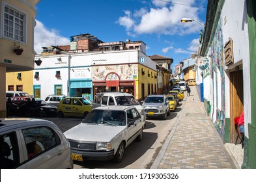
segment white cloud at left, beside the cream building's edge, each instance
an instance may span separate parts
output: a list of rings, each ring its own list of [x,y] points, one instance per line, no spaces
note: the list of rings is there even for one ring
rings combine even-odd
[[[69,45],[69,39],[59,35],[55,29],[48,30],[41,21],[36,20],[34,48],[37,54],[42,52],[42,47],[50,45]]]

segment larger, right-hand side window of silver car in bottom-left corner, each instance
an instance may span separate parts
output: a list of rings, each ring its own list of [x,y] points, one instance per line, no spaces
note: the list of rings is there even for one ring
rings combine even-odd
[[[59,136],[50,127],[22,129],[22,134],[27,148],[28,159],[61,144]]]

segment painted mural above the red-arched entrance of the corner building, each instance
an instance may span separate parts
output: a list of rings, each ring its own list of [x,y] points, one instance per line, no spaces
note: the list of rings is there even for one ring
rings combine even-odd
[[[128,65],[113,65],[113,66],[92,66],[92,81],[105,81],[108,73],[114,72],[119,75],[120,80],[134,80],[137,78],[137,64]],[[117,76],[116,75],[116,76]],[[110,74],[110,77],[115,75]],[[112,80],[115,78],[111,78]]]

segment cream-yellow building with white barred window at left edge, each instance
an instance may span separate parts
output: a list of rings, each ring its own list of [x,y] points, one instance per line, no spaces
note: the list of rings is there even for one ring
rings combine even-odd
[[[0,117],[6,116],[6,73],[34,69],[35,6],[39,2],[40,0],[0,1]],[[14,24],[18,24],[18,29]],[[17,78],[17,75],[14,77]]]

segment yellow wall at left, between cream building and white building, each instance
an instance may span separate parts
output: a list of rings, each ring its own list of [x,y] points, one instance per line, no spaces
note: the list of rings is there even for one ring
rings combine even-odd
[[[18,73],[21,73],[21,79],[17,79]],[[7,73],[6,79],[6,90],[8,90],[8,85],[14,86],[14,91],[16,90],[17,85],[23,86],[23,92],[29,93],[29,95],[33,95],[33,71],[27,72],[9,72]]]

